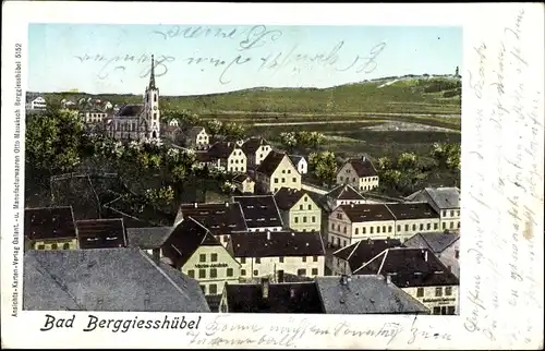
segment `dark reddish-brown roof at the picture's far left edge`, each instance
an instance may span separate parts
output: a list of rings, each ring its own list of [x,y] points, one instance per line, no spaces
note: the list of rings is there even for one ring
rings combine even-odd
[[[75,239],[72,206],[25,208],[24,231],[29,240]]]

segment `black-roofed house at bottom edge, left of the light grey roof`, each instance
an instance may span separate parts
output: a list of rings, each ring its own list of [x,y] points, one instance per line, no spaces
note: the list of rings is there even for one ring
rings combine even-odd
[[[228,283],[219,306],[221,313],[323,313],[316,283]]]

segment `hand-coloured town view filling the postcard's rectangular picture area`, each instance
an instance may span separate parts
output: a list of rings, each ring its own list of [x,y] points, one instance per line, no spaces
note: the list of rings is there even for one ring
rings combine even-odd
[[[29,24],[23,310],[459,314],[462,63],[461,26]]]

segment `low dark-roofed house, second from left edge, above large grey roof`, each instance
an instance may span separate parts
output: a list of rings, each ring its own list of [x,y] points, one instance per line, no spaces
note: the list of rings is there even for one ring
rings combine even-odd
[[[122,218],[84,219],[75,222],[80,249],[126,247]]]

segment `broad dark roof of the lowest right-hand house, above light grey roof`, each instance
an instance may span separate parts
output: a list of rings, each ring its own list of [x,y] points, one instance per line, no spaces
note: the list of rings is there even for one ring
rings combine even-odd
[[[458,278],[428,249],[387,249],[353,274],[390,275],[399,288],[459,285]]]

